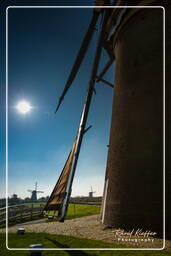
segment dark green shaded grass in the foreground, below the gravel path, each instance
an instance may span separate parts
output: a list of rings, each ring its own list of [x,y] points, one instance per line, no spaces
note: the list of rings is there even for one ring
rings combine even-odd
[[[115,248],[123,247],[119,244],[105,243],[102,241],[76,238],[63,235],[51,235],[47,233],[26,233],[24,235],[9,234],[10,248],[28,248],[30,244],[43,244],[44,248]],[[0,234],[0,252],[1,256],[28,256],[29,251],[9,251],[5,248],[5,234]],[[42,256],[86,256],[86,255],[104,255],[104,256],[169,256],[166,251],[44,251]]]

